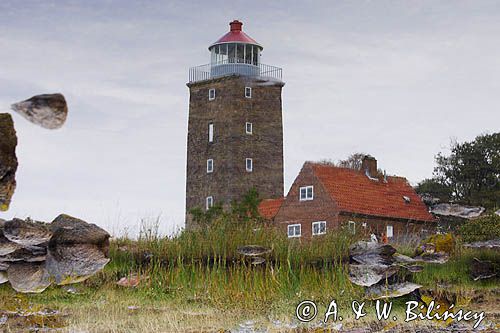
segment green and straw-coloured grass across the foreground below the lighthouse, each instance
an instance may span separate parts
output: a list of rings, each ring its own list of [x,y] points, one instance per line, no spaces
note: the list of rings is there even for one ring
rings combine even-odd
[[[289,240],[256,221],[235,227],[220,219],[210,228],[163,238],[155,230],[144,228],[136,241],[113,240],[111,262],[77,285],[77,294],[53,286],[42,294],[16,295],[3,285],[0,304],[14,310],[58,309],[69,314],[65,324],[84,331],[184,332],[218,331],[250,319],[262,325],[272,319],[291,322],[304,299],[323,311],[333,299],[343,309],[363,299],[364,290],[350,283],[346,265],[357,237],[343,230],[313,241]],[[239,246],[249,244],[272,249],[264,264],[253,266],[238,253]],[[407,278],[435,292],[443,284],[461,295],[497,289],[498,280],[471,280],[468,267],[474,257],[498,261],[493,251],[457,247],[447,264],[426,265]],[[116,285],[130,273],[144,278],[137,288]],[[403,302],[395,304],[401,311]]]

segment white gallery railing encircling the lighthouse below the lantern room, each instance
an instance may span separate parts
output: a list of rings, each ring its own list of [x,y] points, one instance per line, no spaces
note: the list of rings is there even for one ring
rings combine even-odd
[[[282,81],[282,69],[275,66],[246,62],[238,62],[237,59],[229,59],[218,63],[206,64],[189,69],[189,83],[215,79],[230,75],[244,75],[251,77],[270,78]]]

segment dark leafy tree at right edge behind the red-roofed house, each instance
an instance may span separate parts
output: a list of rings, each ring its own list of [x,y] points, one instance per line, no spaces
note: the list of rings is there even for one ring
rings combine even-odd
[[[433,180],[450,191],[454,201],[486,208],[500,206],[500,133],[451,145],[451,153],[436,156]]]

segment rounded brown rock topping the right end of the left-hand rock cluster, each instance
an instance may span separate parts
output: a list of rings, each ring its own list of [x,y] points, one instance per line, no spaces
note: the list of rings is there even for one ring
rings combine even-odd
[[[49,225],[53,236],[50,244],[94,244],[102,248],[109,246],[110,235],[95,224],[61,214]]]

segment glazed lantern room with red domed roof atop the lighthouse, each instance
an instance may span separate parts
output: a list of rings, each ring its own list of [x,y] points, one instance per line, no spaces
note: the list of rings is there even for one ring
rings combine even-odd
[[[243,32],[243,23],[229,23],[230,31],[210,45],[211,64],[237,63],[258,66],[263,47]]]

